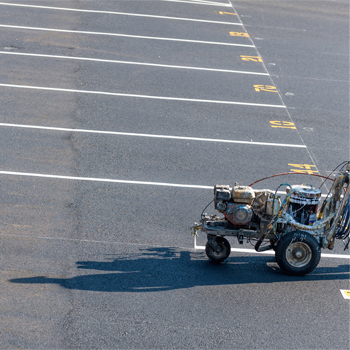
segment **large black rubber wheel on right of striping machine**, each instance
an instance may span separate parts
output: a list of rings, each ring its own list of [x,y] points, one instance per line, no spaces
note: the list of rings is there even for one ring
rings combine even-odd
[[[321,248],[316,238],[309,233],[293,231],[282,236],[275,256],[282,271],[289,275],[304,276],[320,262]]]

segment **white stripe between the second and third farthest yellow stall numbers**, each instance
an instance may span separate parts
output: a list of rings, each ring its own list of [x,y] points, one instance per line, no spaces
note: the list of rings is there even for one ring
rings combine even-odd
[[[58,33],[74,33],[74,34],[87,34],[87,35],[105,35],[105,36],[116,36],[123,38],[135,38],[135,39],[147,39],[147,40],[163,40],[163,41],[175,41],[184,43],[195,43],[195,44],[207,44],[207,45],[223,45],[223,46],[240,46],[240,47],[252,47],[254,45],[243,45],[225,42],[215,42],[215,41],[202,41],[202,40],[189,40],[189,39],[176,39],[176,38],[162,38],[155,36],[142,36],[142,35],[130,35],[130,34],[117,34],[117,33],[103,33],[103,32],[88,32],[81,30],[68,30],[68,29],[53,29],[53,28],[39,28],[39,27],[24,27],[24,26],[14,26],[7,24],[0,24],[1,28],[13,28],[13,29],[25,29],[25,30],[39,30],[45,32],[58,32]]]

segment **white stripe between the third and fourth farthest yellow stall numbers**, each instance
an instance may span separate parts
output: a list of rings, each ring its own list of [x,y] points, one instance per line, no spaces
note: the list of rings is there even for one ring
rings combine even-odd
[[[168,64],[156,64],[156,63],[145,63],[145,62],[117,61],[117,60],[106,60],[106,59],[89,58],[89,57],[44,55],[44,54],[36,54],[36,53],[8,52],[8,51],[0,51],[0,54],[2,54],[2,55],[29,56],[29,57],[43,57],[43,58],[58,58],[58,59],[65,59],[65,60],[91,61],[91,62],[101,62],[101,63],[130,64],[130,65],[151,66],[151,67],[161,67],[161,68],[201,70],[201,71],[208,71],[208,72],[239,73],[239,74],[269,76],[269,73],[247,72],[247,71],[230,70],[230,69],[217,69],[217,68],[174,66],[174,65],[168,65]]]

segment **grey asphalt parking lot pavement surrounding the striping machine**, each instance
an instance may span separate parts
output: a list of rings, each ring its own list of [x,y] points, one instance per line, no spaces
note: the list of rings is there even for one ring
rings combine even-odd
[[[0,30],[1,349],[349,349],[341,241],[293,277],[189,229],[215,184],[349,160],[347,1],[8,0]]]

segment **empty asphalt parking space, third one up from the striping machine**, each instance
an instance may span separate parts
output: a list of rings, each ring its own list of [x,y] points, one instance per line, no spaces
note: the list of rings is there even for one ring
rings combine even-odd
[[[5,55],[1,84],[156,97],[266,104],[284,108],[268,76]],[[106,66],[107,64],[107,66]],[[22,69],[19,67],[23,67]],[[53,76],[51,72],[59,72]],[[84,76],[80,76],[84,72]],[[76,73],[75,80],[72,73]],[[86,73],[86,75],[85,75]],[[73,81],[72,81],[73,80]],[[74,85],[73,85],[74,84]],[[239,85],[239,87],[238,87]],[[180,88],[179,88],[180,87]]]

